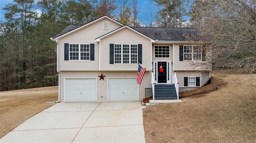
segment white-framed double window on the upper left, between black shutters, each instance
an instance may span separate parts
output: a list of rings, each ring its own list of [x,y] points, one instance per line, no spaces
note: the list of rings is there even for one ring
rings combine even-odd
[[[70,60],[90,60],[90,44],[69,44]]]

